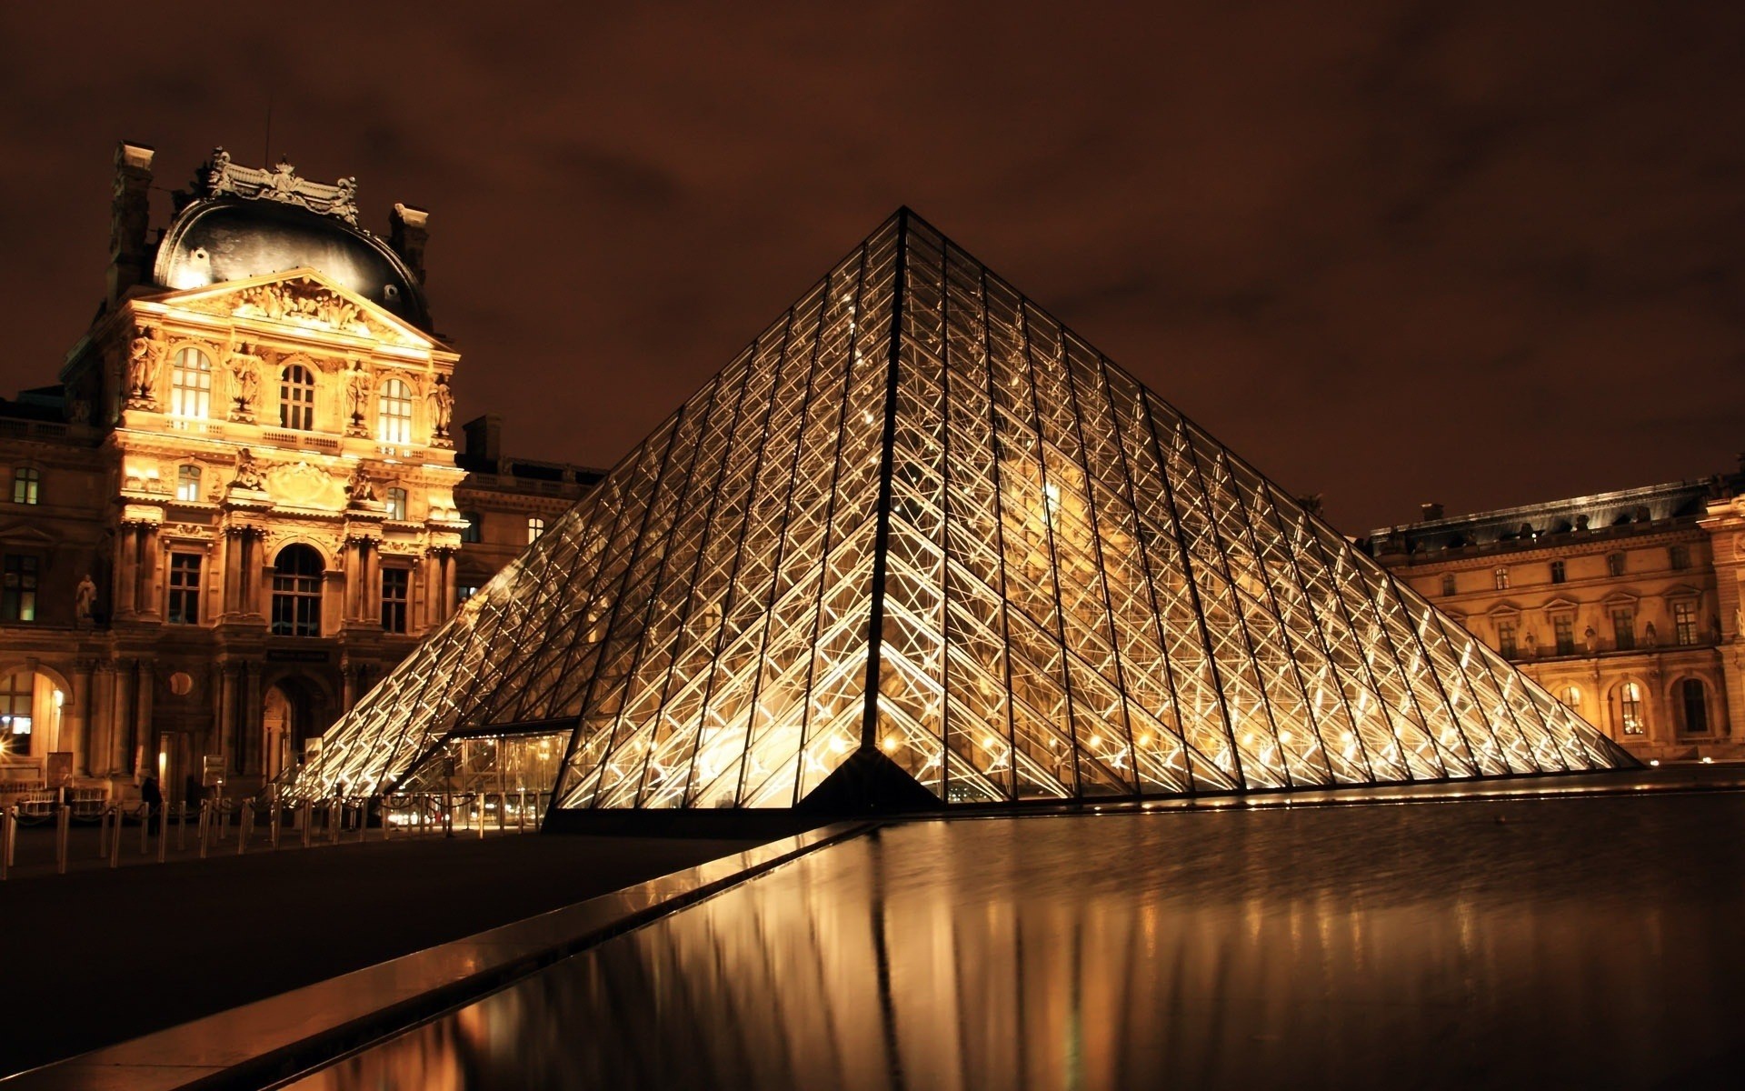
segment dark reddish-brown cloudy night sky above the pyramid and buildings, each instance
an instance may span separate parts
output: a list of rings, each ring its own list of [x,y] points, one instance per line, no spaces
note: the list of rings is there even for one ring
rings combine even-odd
[[[0,389],[99,302],[115,141],[161,225],[270,96],[431,209],[524,457],[616,461],[904,202],[1352,534],[1745,449],[1742,3],[438,7],[5,5]]]

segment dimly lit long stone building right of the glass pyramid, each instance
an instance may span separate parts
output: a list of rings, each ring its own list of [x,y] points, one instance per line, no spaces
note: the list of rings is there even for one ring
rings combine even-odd
[[[1368,550],[1642,759],[1745,758],[1745,473],[1382,527]]]

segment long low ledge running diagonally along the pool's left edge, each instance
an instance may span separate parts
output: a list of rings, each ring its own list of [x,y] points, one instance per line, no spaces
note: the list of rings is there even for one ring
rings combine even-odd
[[[262,1088],[871,829],[838,822],[0,1081],[3,1091]],[[337,922],[344,927],[344,922]]]

